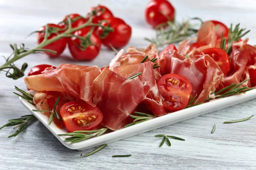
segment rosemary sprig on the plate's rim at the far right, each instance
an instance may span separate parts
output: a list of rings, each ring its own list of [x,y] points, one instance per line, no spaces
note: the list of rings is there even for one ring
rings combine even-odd
[[[242,82],[240,82],[239,84],[233,84],[233,85],[229,85],[223,89],[221,89],[220,91],[214,93],[215,94],[215,98],[221,98],[221,97],[227,97],[227,96],[231,96],[234,94],[241,94],[244,93],[246,91],[250,91],[254,88],[248,88],[248,87],[239,87],[240,85],[242,85],[244,82],[247,82],[249,79],[244,80]]]

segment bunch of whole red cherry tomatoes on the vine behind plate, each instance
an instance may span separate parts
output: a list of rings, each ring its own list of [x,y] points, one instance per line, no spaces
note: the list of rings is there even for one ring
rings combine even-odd
[[[67,45],[75,59],[93,60],[99,54],[102,44],[108,48],[121,48],[128,44],[131,38],[131,26],[122,19],[114,17],[106,6],[99,5],[91,7],[86,17],[82,17],[80,14],[69,14],[58,25],[48,24],[48,40],[67,30],[68,18],[71,20],[72,28],[79,27],[85,23],[90,24],[90,26],[74,31],[72,33],[73,37],[64,37],[44,46],[44,49],[56,51],[56,54],[44,51],[49,57],[58,57]],[[105,31],[105,27],[111,29]],[[44,40],[45,31],[45,26],[39,28],[37,34],[38,44]]]

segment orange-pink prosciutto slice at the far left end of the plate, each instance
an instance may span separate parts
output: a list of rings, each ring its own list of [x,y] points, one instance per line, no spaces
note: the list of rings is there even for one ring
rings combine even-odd
[[[61,64],[57,69],[47,68],[43,74],[26,77],[25,83],[34,91],[61,91],[93,105],[92,84],[100,73],[98,66]]]

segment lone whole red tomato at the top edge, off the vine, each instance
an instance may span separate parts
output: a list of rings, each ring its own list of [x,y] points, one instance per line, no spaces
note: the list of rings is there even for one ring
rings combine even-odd
[[[151,0],[145,10],[145,18],[149,25],[156,27],[175,18],[175,8],[168,0]]]

